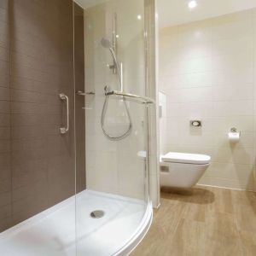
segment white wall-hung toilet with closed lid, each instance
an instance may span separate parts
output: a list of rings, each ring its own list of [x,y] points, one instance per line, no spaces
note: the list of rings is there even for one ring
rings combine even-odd
[[[160,185],[189,189],[199,181],[210,165],[206,154],[170,152],[160,156]]]

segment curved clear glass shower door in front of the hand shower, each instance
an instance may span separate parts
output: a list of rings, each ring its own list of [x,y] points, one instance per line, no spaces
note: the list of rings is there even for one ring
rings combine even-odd
[[[85,86],[76,99],[85,101],[76,116],[85,112],[86,189],[76,196],[77,255],[125,254],[152,213],[144,3],[78,2],[84,7]]]

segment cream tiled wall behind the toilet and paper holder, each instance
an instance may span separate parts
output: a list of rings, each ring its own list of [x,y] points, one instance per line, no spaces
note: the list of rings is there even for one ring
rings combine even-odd
[[[202,184],[253,189],[255,39],[255,9],[160,31],[160,151],[211,155]],[[191,128],[190,119],[202,127]],[[231,144],[234,126],[241,140]]]

